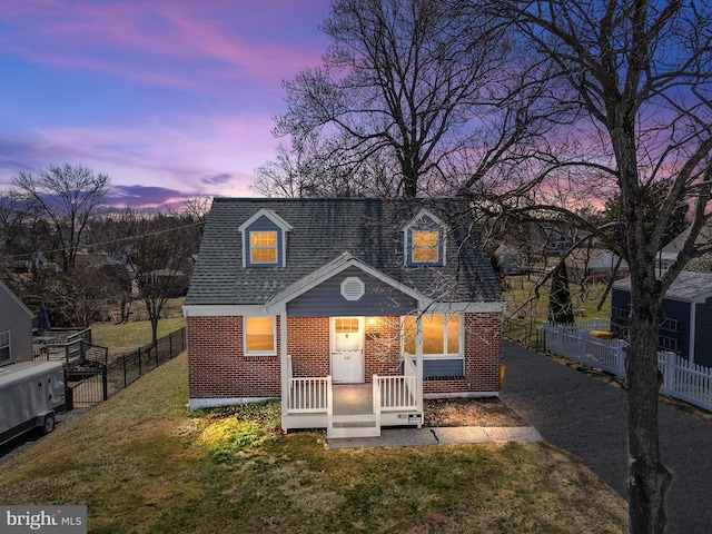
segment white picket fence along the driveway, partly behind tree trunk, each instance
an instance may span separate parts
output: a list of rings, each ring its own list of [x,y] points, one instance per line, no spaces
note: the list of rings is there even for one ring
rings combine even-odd
[[[544,323],[544,350],[625,378],[625,342],[590,334],[609,328],[601,319],[581,325]],[[662,393],[712,412],[712,368],[691,364],[671,352],[657,353],[657,365],[663,375]]]

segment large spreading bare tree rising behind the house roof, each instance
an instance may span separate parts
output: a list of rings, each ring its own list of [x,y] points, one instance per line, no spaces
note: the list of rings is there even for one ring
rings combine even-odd
[[[274,170],[286,178],[267,189],[295,195],[295,178],[317,176],[301,167],[314,159],[347,169],[336,178],[362,178],[353,172],[377,156],[392,182],[382,192],[452,194],[463,181],[472,189],[507,157],[531,156],[548,117],[523,80],[541,78],[542,67],[517,62],[503,20],[478,8],[334,0],[322,28],[332,39],[324,65],[285,83],[288,111],[277,117],[275,134],[291,136],[298,158],[281,155],[277,169],[265,167],[266,184]],[[305,161],[305,150],[316,158]]]

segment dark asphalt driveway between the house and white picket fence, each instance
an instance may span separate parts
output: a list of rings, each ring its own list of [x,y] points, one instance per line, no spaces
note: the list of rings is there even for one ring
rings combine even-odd
[[[627,496],[625,392],[511,342],[503,343],[503,359],[502,399]],[[712,533],[712,423],[661,404],[660,434],[663,463],[674,474],[666,532]]]

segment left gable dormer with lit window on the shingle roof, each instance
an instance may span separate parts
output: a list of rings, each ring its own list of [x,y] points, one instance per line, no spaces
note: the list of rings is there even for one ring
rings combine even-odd
[[[284,267],[291,225],[269,209],[260,209],[238,228],[243,236],[243,267]]]

